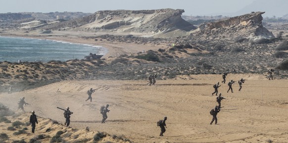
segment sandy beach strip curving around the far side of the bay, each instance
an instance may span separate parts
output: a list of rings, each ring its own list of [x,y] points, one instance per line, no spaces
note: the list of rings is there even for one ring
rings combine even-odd
[[[22,38],[35,38],[35,39],[45,39],[45,40],[55,40],[69,42],[73,44],[89,44],[92,46],[100,46],[106,48],[107,52],[102,56],[102,58],[115,58],[119,57],[122,54],[136,54],[138,52],[147,51],[147,50],[158,50],[159,48],[166,48],[166,45],[151,45],[151,44],[134,44],[134,43],[124,43],[124,42],[115,42],[107,41],[106,39],[97,39],[87,38],[83,39],[81,36],[91,37],[89,33],[81,34],[76,36],[77,32],[71,32],[71,35],[63,35],[61,33],[50,34],[50,35],[41,35],[41,34],[25,34],[25,33],[1,33],[0,36],[6,37],[22,37]],[[95,35],[94,35],[95,36]]]

